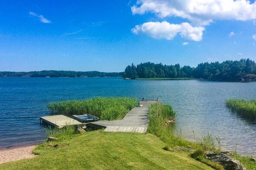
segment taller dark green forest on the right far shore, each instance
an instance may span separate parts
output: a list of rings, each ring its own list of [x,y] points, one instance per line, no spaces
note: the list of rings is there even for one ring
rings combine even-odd
[[[146,62],[137,66],[128,65],[123,77],[130,79],[188,77],[220,81],[256,81],[256,63],[249,58],[240,61],[228,60],[222,63],[205,62],[198,64],[197,67]]]

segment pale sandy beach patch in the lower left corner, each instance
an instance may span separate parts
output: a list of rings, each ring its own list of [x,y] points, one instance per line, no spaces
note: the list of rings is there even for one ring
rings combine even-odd
[[[36,157],[36,155],[32,153],[35,147],[36,145],[0,150],[0,164],[5,162],[11,162],[14,160],[21,160],[21,159]]]

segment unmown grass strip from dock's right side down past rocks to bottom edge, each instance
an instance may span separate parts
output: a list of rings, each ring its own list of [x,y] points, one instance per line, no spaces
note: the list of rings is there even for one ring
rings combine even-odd
[[[175,124],[166,123],[168,120],[174,119],[176,113],[170,105],[156,103],[149,107],[149,125],[148,132],[157,135],[167,146],[165,150],[171,151],[173,147],[192,148],[195,149],[191,154],[196,160],[203,162],[217,170],[224,170],[220,164],[213,163],[204,157],[205,151],[216,151],[215,139],[218,141],[220,147],[220,139],[213,137],[210,133],[202,138],[201,142],[190,142],[182,138],[181,129],[177,130],[177,135],[174,135]]]

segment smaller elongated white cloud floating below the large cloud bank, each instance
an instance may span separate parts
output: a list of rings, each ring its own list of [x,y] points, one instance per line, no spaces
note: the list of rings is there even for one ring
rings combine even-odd
[[[169,22],[146,22],[131,29],[135,34],[143,33],[157,39],[173,39],[178,33],[181,37],[193,41],[201,41],[203,27],[193,27],[187,22],[171,24]]]

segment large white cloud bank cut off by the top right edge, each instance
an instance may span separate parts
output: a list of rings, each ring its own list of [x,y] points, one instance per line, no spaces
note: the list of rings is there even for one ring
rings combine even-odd
[[[158,17],[178,16],[203,26],[214,19],[256,19],[256,2],[249,0],[138,0],[133,14],[155,13]]]

